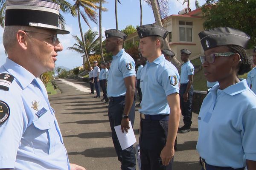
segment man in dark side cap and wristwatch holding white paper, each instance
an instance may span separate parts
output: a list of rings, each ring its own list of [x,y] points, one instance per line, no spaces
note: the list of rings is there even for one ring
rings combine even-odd
[[[134,147],[122,150],[114,126],[121,125],[121,130],[128,132],[134,125],[135,116],[135,62],[122,48],[127,35],[117,29],[105,31],[106,51],[112,52],[113,61],[108,71],[107,93],[109,97],[108,119],[112,130],[113,144],[121,162],[122,170],[135,170]],[[128,132],[129,133],[129,132]]]

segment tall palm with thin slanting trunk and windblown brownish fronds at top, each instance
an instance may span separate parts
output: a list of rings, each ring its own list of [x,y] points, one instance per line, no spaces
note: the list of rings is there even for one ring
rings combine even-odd
[[[84,22],[87,24],[87,26],[90,27],[87,17],[89,17],[89,19],[91,21],[93,21],[93,23],[97,24],[97,13],[95,10],[99,9],[99,6],[96,6],[96,3],[99,3],[99,1],[100,0],[76,0],[76,3],[73,5],[73,8],[76,9],[77,14],[78,14],[78,23],[79,23],[80,33],[81,33],[81,39],[82,39],[83,46],[84,46],[84,53],[87,58],[87,62],[88,62],[89,66],[91,66],[91,65],[90,65],[87,49],[85,47],[86,44],[85,44],[84,37],[83,37],[80,15],[84,19]],[[105,0],[102,0],[102,2],[105,2]],[[83,11],[80,10],[80,7],[83,8]],[[102,11],[106,11],[106,9],[102,8]],[[84,67],[84,58],[83,58],[83,67]]]

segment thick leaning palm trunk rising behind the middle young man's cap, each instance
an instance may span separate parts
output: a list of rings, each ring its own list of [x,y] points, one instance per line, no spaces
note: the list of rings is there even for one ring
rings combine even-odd
[[[162,23],[160,14],[159,14],[159,9],[158,9],[158,6],[157,6],[157,0],[150,0],[150,1],[151,1],[151,6],[152,6],[153,13],[154,13],[154,18],[156,20],[157,25],[163,26],[163,23]],[[164,40],[164,42],[165,43],[163,45],[163,48],[171,50],[169,42],[167,40],[167,37]],[[172,58],[172,64],[175,65],[175,67],[180,71],[181,63],[177,60],[176,57]]]

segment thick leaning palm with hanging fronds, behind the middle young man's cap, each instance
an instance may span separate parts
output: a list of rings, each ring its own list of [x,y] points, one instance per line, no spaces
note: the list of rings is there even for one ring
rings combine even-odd
[[[148,2],[151,3],[151,7],[154,13],[154,18],[156,20],[156,23],[159,26],[163,26],[161,18],[168,17],[168,11],[169,11],[169,3],[168,0],[148,0]],[[166,49],[171,50],[169,42],[167,38],[165,39],[164,47]],[[176,57],[172,58],[172,63],[176,66],[178,70],[180,70],[181,63],[177,60]]]

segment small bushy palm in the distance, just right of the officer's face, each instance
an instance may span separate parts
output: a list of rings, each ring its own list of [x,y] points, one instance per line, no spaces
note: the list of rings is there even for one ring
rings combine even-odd
[[[73,47],[68,47],[67,49],[76,51],[80,54],[84,54],[84,51],[87,51],[88,54],[94,53],[97,50],[97,47],[99,45],[100,38],[96,38],[98,36],[97,31],[88,30],[84,33],[84,40],[85,40],[85,49],[84,49],[84,42],[79,39],[77,35],[73,35],[73,38],[76,40],[76,43],[73,45]]]

